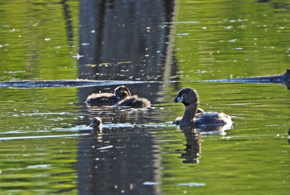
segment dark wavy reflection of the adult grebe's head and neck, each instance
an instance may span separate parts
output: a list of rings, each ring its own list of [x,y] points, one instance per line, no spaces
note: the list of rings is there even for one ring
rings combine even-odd
[[[182,131],[186,138],[185,152],[180,156],[180,158],[185,159],[182,163],[199,163],[198,158],[200,158],[201,149],[196,130],[194,128],[182,128]]]

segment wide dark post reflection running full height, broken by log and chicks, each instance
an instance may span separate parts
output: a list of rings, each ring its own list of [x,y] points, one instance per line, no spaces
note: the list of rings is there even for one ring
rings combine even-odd
[[[172,41],[169,37],[174,8],[175,0],[81,0],[79,79],[170,80],[176,72],[173,50],[168,49],[172,47],[168,42]],[[151,103],[164,88],[156,83],[127,87]],[[80,102],[92,92],[109,92],[104,88],[107,87],[79,88]],[[142,122],[141,117],[116,116],[112,120],[132,124],[133,120]],[[154,138],[148,132],[136,135],[138,131],[139,127],[126,131],[122,128],[122,132],[114,131],[108,136],[103,129],[102,138],[80,139],[77,161],[80,194],[160,194],[157,185],[143,184],[159,178],[153,157]]]

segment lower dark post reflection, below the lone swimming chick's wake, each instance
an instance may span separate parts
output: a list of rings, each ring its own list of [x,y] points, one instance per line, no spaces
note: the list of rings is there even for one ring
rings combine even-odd
[[[156,185],[144,185],[155,180],[157,170],[153,138],[147,133],[136,136],[135,130],[126,128],[80,138],[79,194],[159,194]]]

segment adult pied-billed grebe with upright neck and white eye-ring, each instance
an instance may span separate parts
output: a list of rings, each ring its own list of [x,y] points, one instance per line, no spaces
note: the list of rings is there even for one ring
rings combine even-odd
[[[200,112],[197,113],[199,99],[196,90],[185,88],[178,92],[172,103],[181,102],[185,105],[185,111],[180,120],[179,126],[207,126],[224,125],[232,123],[231,117],[218,112]],[[176,122],[176,121],[175,121]]]

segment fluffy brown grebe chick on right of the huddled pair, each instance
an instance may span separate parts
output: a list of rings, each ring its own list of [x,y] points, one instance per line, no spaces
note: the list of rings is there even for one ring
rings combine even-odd
[[[123,95],[121,92],[119,95]],[[126,96],[123,100],[116,103],[116,106],[131,106],[131,107],[151,107],[150,101],[146,98],[138,97],[137,95]]]

